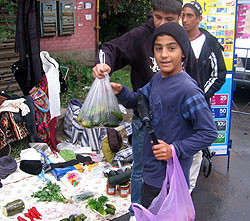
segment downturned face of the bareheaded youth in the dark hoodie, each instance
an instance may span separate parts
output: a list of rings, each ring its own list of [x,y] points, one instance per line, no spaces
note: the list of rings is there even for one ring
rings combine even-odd
[[[154,25],[155,28],[158,28],[160,25],[163,25],[167,22],[179,22],[180,16],[177,14],[167,14],[162,11],[153,11]]]

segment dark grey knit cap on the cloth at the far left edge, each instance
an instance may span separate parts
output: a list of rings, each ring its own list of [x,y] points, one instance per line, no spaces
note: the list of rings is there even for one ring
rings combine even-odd
[[[17,169],[17,162],[10,156],[0,158],[0,179],[5,179]]]

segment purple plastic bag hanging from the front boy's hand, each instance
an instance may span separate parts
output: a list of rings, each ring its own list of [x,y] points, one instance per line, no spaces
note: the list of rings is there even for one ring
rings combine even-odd
[[[166,178],[161,192],[149,208],[132,204],[137,221],[194,221],[193,201],[174,148],[172,153],[173,158],[167,162]]]

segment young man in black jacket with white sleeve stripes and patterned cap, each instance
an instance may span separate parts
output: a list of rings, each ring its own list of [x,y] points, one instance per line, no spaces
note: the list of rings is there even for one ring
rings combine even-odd
[[[216,37],[199,28],[202,20],[202,8],[196,1],[183,6],[182,24],[188,33],[192,49],[198,60],[199,77],[208,103],[225,82],[226,65],[222,54],[223,47]],[[202,152],[194,155],[190,169],[190,192],[196,185],[202,161]]]

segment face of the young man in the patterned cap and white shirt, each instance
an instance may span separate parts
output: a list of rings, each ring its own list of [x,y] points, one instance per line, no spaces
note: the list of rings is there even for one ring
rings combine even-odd
[[[182,24],[187,32],[198,29],[202,20],[202,16],[196,17],[194,10],[190,7],[185,7],[182,12]]]

